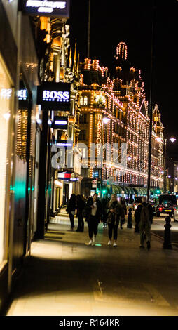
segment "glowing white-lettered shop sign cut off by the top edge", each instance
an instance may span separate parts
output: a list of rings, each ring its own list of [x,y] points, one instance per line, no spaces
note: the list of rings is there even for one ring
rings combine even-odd
[[[22,0],[20,10],[25,15],[69,18],[70,1]]]

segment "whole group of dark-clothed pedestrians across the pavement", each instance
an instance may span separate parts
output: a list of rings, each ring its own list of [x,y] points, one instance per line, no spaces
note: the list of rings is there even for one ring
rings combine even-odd
[[[108,226],[108,245],[111,246],[113,239],[113,246],[117,246],[118,226],[120,224],[123,229],[125,223],[125,215],[127,214],[127,206],[125,199],[118,197],[116,194],[111,195],[111,200],[104,197],[101,200],[97,193],[93,197],[88,197],[85,200],[81,195],[71,194],[69,202],[67,203],[67,213],[69,213],[71,230],[74,230],[74,216],[78,218],[77,232],[83,232],[84,218],[88,223],[89,242],[87,245],[95,245],[97,237],[98,225],[103,223],[103,227]],[[142,204],[137,206],[135,211],[135,223],[139,227],[140,232],[140,248],[144,248],[146,241],[147,249],[151,248],[151,223],[153,223],[153,209],[146,201],[146,197],[142,197]]]

